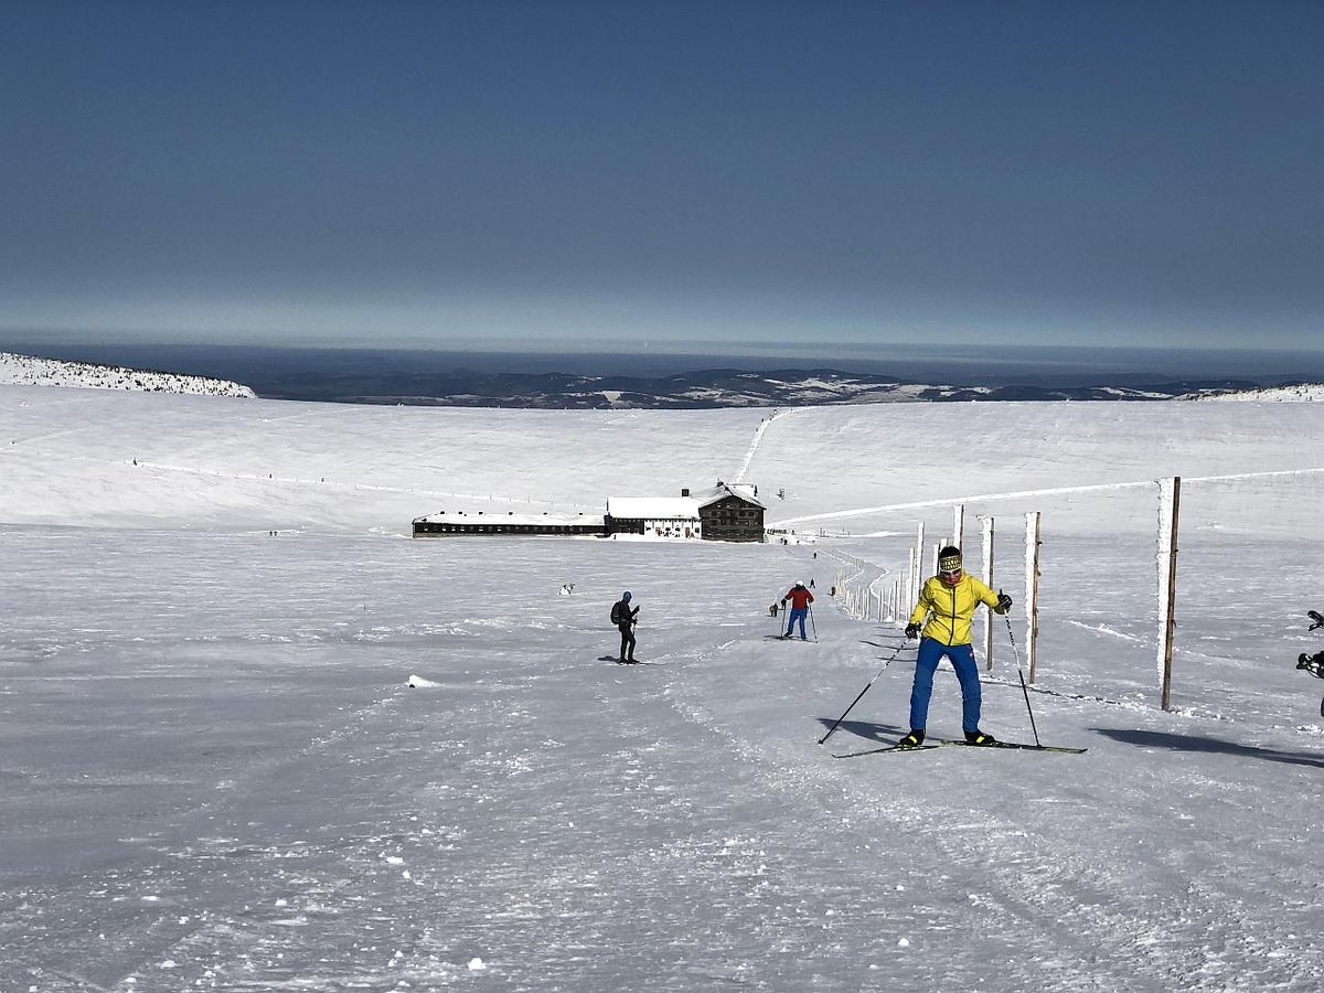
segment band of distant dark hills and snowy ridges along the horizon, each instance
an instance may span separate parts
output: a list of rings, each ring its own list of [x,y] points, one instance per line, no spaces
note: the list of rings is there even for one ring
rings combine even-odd
[[[1324,387],[1263,388],[1250,380],[1178,380],[1144,385],[960,385],[833,368],[751,372],[714,368],[639,375],[494,372],[437,368],[316,368],[286,371],[257,389],[233,380],[123,365],[0,352],[0,383],[94,387],[211,396],[262,396],[348,404],[499,406],[520,409],[710,409],[822,404],[996,402],[1031,400],[1317,400]]]

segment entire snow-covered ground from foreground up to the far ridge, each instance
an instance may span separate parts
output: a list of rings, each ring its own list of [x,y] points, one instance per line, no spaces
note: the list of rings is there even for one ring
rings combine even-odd
[[[1321,436],[1317,404],[0,387],[0,989],[1315,993]],[[408,538],[718,479],[775,540]],[[985,730],[1088,752],[833,757],[904,733],[914,642],[870,594],[963,502],[1016,598]],[[776,641],[801,579],[812,639]],[[610,661],[625,589],[654,665]]]

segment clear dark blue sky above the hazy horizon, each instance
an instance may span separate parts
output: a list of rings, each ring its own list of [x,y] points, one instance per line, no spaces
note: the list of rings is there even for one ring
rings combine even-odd
[[[1320,348],[1324,4],[9,3],[0,331]]]

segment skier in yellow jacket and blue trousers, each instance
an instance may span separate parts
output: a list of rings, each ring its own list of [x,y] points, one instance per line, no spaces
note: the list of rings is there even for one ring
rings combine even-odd
[[[902,739],[903,745],[919,745],[924,740],[933,673],[944,655],[952,659],[956,678],[961,682],[961,730],[965,740],[994,744],[993,735],[980,731],[980,671],[970,647],[970,620],[981,602],[1000,614],[1012,609],[1012,597],[994,593],[963,572],[960,548],[943,548],[937,553],[937,575],[924,580],[919,602],[906,625],[906,637],[914,638],[920,634],[923,624],[923,638],[915,659],[915,686],[911,688],[911,731]]]

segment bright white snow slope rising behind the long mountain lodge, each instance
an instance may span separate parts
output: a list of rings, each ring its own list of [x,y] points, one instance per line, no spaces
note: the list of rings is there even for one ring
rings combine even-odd
[[[767,414],[232,404],[8,387],[0,430],[0,523],[195,530],[408,534],[413,518],[438,510],[601,514],[609,496],[677,496],[723,479],[759,486],[769,523],[808,534],[908,530],[924,515],[949,520],[961,499],[972,522],[1042,510],[1058,528],[1148,534],[1152,481],[1182,475],[1192,522],[1202,514],[1209,527],[1290,532],[1307,527],[1296,508],[1312,477],[1214,477],[1324,465],[1303,444],[1324,436],[1316,404]],[[1254,487],[1266,502],[1251,512],[1237,500]]]

